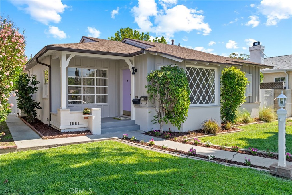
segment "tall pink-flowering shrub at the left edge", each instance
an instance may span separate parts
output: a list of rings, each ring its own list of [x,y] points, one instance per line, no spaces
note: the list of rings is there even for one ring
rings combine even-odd
[[[6,120],[13,104],[8,102],[15,79],[25,69],[25,39],[12,21],[0,17],[0,122]],[[13,94],[14,95],[14,94]]]

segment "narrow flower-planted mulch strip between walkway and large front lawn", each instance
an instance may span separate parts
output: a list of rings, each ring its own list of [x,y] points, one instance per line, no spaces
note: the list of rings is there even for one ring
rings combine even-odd
[[[134,142],[134,143],[138,143],[138,144],[141,144],[141,145],[144,145],[144,146],[149,146],[148,143],[144,142],[144,143],[141,143],[140,141],[138,140],[131,140],[131,139],[124,139],[124,138],[120,138],[120,139],[123,139],[123,140],[126,140],[126,141],[129,141],[129,142]],[[181,151],[181,150],[174,150],[174,149],[171,149],[171,148],[166,148],[166,149],[163,149],[161,146],[157,146],[157,145],[152,145],[150,146],[152,148],[157,148],[157,149],[161,149],[161,150],[166,150],[166,151],[170,151],[170,152],[175,152],[175,153],[179,153],[179,154],[184,154],[184,155],[188,155],[188,156],[194,156],[194,157],[199,157],[199,158],[204,158],[204,159],[208,159],[208,156],[205,156],[205,155],[200,155],[200,154],[196,154],[196,155],[190,155],[188,152],[184,152],[184,151]],[[209,160],[209,159],[208,159]],[[243,166],[246,166],[245,163],[240,163],[240,162],[237,162],[237,161],[233,161],[233,160],[227,160],[227,159],[222,159],[222,158],[213,158],[212,160],[216,161],[216,162],[220,162],[220,163],[229,163],[229,164],[234,164],[234,165],[243,165]],[[257,166],[257,165],[251,165],[250,167],[255,167],[255,168],[260,168],[260,169],[267,169],[269,170],[270,168],[269,167],[261,167],[261,166]]]

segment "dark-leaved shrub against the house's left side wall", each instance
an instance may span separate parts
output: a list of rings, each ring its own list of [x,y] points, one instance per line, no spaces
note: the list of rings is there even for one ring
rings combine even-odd
[[[26,73],[20,74],[16,81],[17,106],[26,114],[26,120],[30,123],[33,123],[36,117],[35,109],[41,109],[41,103],[32,99],[32,95],[39,89],[37,84],[39,81],[36,80],[36,76],[30,77]]]

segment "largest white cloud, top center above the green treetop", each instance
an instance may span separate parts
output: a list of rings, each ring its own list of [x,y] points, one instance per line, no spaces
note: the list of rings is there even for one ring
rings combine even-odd
[[[159,3],[165,2],[159,1]],[[173,6],[175,3],[168,5]],[[202,31],[203,35],[208,35],[211,32],[209,24],[204,22],[205,17],[201,15],[203,11],[189,9],[184,5],[159,9],[154,0],[140,0],[138,6],[134,6],[132,11],[135,22],[144,32],[148,31],[165,37],[173,37],[174,33],[180,31],[198,30]]]

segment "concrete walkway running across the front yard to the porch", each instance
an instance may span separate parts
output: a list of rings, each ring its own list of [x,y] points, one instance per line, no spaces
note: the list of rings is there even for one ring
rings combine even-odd
[[[167,145],[168,148],[182,150],[188,152],[190,148],[195,148],[197,154],[201,155],[215,155],[217,158],[233,160],[237,162],[244,163],[245,157],[251,160],[251,164],[258,166],[270,167],[273,163],[277,163],[277,159],[263,158],[253,155],[246,155],[236,152],[230,152],[225,150],[217,150],[213,148],[201,147],[201,146],[192,146],[190,144],[179,143],[175,141],[165,140],[157,137],[152,137],[144,135],[144,131],[124,131],[117,133],[108,133],[101,135],[89,135],[89,136],[78,136],[78,137],[67,137],[67,138],[56,138],[56,139],[42,139],[38,134],[36,134],[32,129],[30,129],[22,120],[16,116],[8,116],[6,120],[7,126],[10,129],[10,132],[13,136],[15,144],[18,146],[17,150],[29,150],[29,149],[41,149],[41,148],[50,148],[55,146],[70,145],[77,143],[87,143],[93,141],[101,141],[105,139],[114,139],[117,137],[122,137],[123,134],[128,134],[128,137],[131,138],[135,136],[138,140],[144,139],[145,142],[148,142],[150,139],[154,139],[156,145],[162,146]],[[286,162],[287,165],[292,165],[292,162]]]

